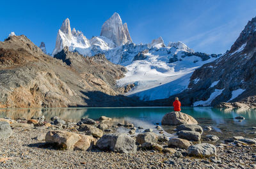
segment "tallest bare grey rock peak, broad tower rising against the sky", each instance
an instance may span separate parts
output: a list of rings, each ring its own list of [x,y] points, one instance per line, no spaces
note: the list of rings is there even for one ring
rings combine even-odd
[[[117,46],[132,42],[127,24],[122,24],[122,20],[118,13],[114,13],[102,25],[100,36],[105,36],[112,40]]]

